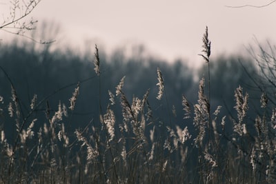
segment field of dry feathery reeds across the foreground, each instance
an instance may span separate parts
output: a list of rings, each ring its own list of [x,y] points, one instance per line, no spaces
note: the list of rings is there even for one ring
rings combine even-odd
[[[70,105],[59,102],[52,112],[46,100],[37,101],[34,95],[29,113],[23,114],[16,86],[1,68],[10,80],[12,98],[8,106],[0,98],[0,111],[14,119],[16,136],[8,140],[1,130],[0,183],[275,183],[276,108],[268,108],[263,93],[259,97],[263,114],[256,115],[255,130],[249,130],[245,119],[249,95],[237,86],[233,92],[233,108],[237,110],[237,119],[231,119],[233,126],[226,125],[228,114],[220,114],[221,106],[211,112],[208,28],[203,42],[204,54],[200,55],[208,63],[208,93],[203,78],[196,104],[182,95],[183,125],[171,121],[174,113],[166,98],[166,76],[160,68],[156,96],[165,98],[170,122],[157,121],[152,114],[150,90],[145,90],[141,98],[134,94],[127,99],[125,77],[117,86],[110,86],[110,103],[102,107],[97,45],[94,63],[99,78],[99,122],[91,119],[86,127],[76,130],[71,127],[70,112],[78,103],[81,83],[68,99]],[[35,114],[42,103],[46,103],[46,123]],[[120,118],[115,116],[115,104],[121,106]],[[188,129],[190,121],[192,130]]]

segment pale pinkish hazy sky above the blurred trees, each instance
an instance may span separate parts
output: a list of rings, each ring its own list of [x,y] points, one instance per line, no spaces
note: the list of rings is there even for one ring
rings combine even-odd
[[[0,10],[9,10],[0,0]],[[275,43],[276,3],[270,0],[42,0],[30,17],[59,27],[54,44],[87,50],[97,43],[106,52],[143,44],[166,61],[202,61],[201,38],[208,26],[211,59],[246,52],[248,44]],[[229,6],[245,6],[231,8]],[[3,17],[3,14],[1,15]],[[28,18],[30,18],[28,17]],[[51,28],[52,30],[54,28]],[[1,35],[1,32],[0,32]]]

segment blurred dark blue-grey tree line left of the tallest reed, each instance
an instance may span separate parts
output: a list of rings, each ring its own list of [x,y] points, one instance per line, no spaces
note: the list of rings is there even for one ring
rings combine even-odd
[[[99,112],[97,109],[97,99],[99,98],[97,86],[99,86],[99,81],[96,80],[93,72],[91,57],[90,62],[88,62],[83,61],[79,55],[73,54],[73,52],[56,50],[55,52],[48,52],[48,57],[41,61],[40,52],[37,50],[33,52],[28,49],[28,45],[23,47],[16,42],[10,45],[1,45],[0,49],[0,65],[5,68],[17,88],[19,99],[26,113],[34,94],[37,94],[38,101],[40,101],[57,91],[47,99],[50,108],[55,110],[59,101],[68,105],[68,99],[70,99],[75,85],[81,81],[80,95],[74,112],[75,118],[72,121],[78,122],[76,127],[86,125],[91,118],[97,122]],[[115,87],[120,79],[126,76],[124,92],[126,92],[130,103],[133,95],[142,98],[150,88],[148,101],[152,105],[152,110],[155,110],[155,117],[167,120],[167,113],[164,113],[164,108],[160,108],[160,102],[156,99],[158,90],[156,70],[159,67],[164,74],[166,94],[169,100],[169,107],[165,107],[165,110],[171,112],[172,105],[174,105],[177,110],[175,122],[182,122],[181,94],[187,94],[193,84],[193,71],[188,68],[184,61],[166,63],[153,57],[144,57],[141,61],[141,58],[136,59],[134,56],[127,58],[124,52],[117,52],[112,56],[117,57],[108,57],[110,61],[106,61],[106,57],[100,57],[101,66],[103,66],[101,72],[103,108],[106,108],[109,102],[108,90],[115,94]],[[3,72],[0,72],[0,76],[1,85],[6,86],[0,89],[0,94],[8,103],[10,83]],[[162,103],[166,106],[166,103]],[[41,112],[38,112],[41,113],[43,119],[45,119],[43,112],[46,108],[45,104],[45,102],[41,104],[39,107]],[[116,108],[116,112],[117,120],[120,121],[120,105]],[[42,121],[42,123],[44,122]]]

